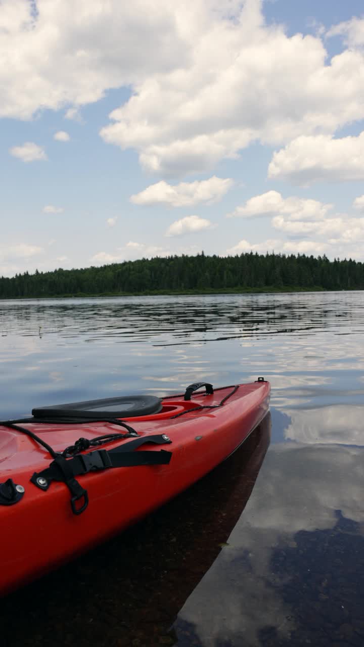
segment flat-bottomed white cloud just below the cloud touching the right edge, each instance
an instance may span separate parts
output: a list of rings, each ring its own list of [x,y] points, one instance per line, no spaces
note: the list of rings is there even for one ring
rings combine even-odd
[[[288,215],[291,220],[312,220],[326,215],[332,204],[299,197],[283,198],[277,191],[268,191],[255,195],[247,200],[244,206],[238,206],[229,217],[254,217],[260,215]]]

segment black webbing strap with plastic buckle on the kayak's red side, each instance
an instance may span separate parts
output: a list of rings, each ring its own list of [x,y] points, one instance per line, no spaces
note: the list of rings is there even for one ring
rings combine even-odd
[[[146,443],[169,444],[171,442],[168,436],[159,434],[139,437],[111,450],[101,449],[89,452],[89,454],[78,454],[71,459],[58,455],[45,470],[34,472],[30,481],[41,490],[48,490],[52,481],[62,481],[72,494],[71,508],[73,514],[81,514],[87,508],[89,499],[87,490],[76,481],[76,476],[82,476],[91,471],[107,470],[112,467],[168,465],[172,452],[166,452],[166,450],[161,450],[160,452],[134,452],[134,450]],[[80,500],[82,500],[81,507],[76,507],[76,503]]]

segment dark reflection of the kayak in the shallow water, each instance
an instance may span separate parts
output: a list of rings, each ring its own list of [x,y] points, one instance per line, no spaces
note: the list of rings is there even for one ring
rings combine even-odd
[[[102,547],[5,598],[0,620],[6,646],[34,644],[34,636],[52,647],[73,641],[109,647],[174,644],[168,630],[239,520],[270,432],[268,413],[229,459],[186,492]]]

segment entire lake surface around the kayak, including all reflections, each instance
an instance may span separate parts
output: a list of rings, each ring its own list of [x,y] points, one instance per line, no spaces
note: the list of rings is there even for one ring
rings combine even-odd
[[[0,302],[2,419],[194,381],[272,386],[229,461],[3,600],[5,647],[362,647],[363,333],[364,292]]]

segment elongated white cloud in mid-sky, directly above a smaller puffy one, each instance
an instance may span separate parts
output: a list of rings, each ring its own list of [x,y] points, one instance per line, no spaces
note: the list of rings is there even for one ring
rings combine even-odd
[[[212,204],[222,198],[233,186],[233,180],[213,175],[208,180],[180,182],[175,186],[165,181],[151,184],[144,191],[131,195],[134,204],[166,204],[169,206],[192,206],[198,203]]]

